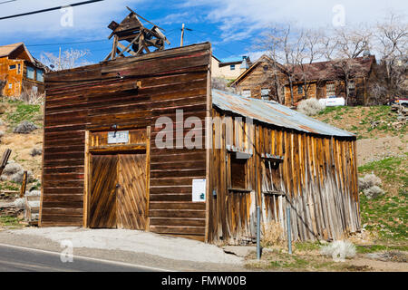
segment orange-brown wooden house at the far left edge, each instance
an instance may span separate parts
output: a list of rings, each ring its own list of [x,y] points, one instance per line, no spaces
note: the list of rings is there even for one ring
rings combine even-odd
[[[46,67],[27,50],[24,43],[0,46],[2,94],[18,97],[24,92],[44,93]]]

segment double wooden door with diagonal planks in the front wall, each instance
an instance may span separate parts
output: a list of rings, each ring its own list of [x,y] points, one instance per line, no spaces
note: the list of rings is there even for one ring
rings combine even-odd
[[[147,227],[146,154],[92,155],[90,227]]]

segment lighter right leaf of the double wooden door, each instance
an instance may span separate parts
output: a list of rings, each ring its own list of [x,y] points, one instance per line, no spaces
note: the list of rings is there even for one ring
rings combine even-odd
[[[117,227],[146,229],[146,154],[120,154]]]

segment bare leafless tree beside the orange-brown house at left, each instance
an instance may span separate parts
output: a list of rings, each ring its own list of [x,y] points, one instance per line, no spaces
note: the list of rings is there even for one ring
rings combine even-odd
[[[59,55],[54,55],[53,53],[41,53],[41,62],[54,71],[68,70],[91,64],[84,59],[89,54],[89,50],[75,50],[73,48],[61,53],[61,59]]]

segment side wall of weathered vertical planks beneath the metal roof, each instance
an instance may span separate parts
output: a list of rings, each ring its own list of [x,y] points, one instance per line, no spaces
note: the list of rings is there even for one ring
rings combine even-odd
[[[355,139],[306,134],[261,123],[245,125],[245,119],[239,121],[237,116],[218,109],[213,114],[219,117],[213,124],[213,142],[220,140],[221,144],[211,156],[210,189],[216,190],[217,197],[209,200],[209,241],[239,244],[256,237],[257,204],[262,208],[264,225],[277,222],[285,230],[290,204],[295,240],[338,239],[360,229]],[[254,144],[245,136],[257,141]],[[254,151],[248,160],[251,192],[228,190],[228,145]],[[287,198],[263,193],[269,176],[262,153],[285,157],[273,172],[273,179]]]

